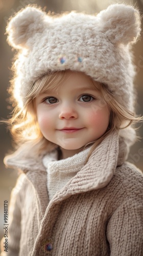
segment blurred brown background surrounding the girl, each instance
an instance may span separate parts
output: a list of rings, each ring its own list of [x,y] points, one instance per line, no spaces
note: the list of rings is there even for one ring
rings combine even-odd
[[[143,14],[143,0],[137,1],[120,1],[120,3],[132,4],[139,8],[141,14]],[[5,35],[7,21],[10,16],[19,11],[21,8],[27,5],[37,4],[41,6],[46,12],[60,13],[61,11],[86,11],[90,14],[97,13],[102,9],[105,9],[108,5],[113,3],[119,3],[113,0],[0,0],[0,119],[7,119],[11,110],[8,102],[9,95],[7,93],[7,87],[9,86],[9,79],[11,79],[11,61],[14,55],[11,47],[8,46]],[[143,36],[134,46],[134,62],[137,68],[137,76],[135,79],[135,86],[138,92],[137,99],[137,113],[143,114]],[[143,137],[143,129],[140,127],[138,131],[139,135]],[[15,185],[17,172],[12,169],[7,169],[4,166],[4,156],[12,150],[12,141],[7,127],[5,124],[0,125],[1,135],[1,148],[0,148],[0,239],[4,234],[4,201],[7,200],[9,203],[10,193]],[[129,159],[130,162],[134,163],[138,168],[143,170],[143,144],[142,139],[132,146]]]

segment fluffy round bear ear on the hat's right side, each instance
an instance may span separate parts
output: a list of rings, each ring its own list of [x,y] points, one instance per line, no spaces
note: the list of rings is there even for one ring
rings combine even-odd
[[[132,6],[114,4],[101,11],[97,17],[101,31],[113,43],[134,43],[140,33],[139,11]]]

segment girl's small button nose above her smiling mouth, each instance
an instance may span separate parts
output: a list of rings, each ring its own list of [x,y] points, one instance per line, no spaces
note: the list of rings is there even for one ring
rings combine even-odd
[[[76,119],[78,117],[78,113],[74,108],[64,107],[61,109],[59,118],[60,119]]]

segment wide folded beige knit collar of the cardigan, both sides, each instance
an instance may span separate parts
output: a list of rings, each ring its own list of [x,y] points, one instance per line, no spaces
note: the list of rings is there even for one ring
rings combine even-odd
[[[87,191],[105,187],[112,179],[117,165],[121,165],[126,158],[126,148],[121,141],[119,151],[119,139],[116,132],[109,134],[104,141],[93,151],[88,162],[81,168],[76,176],[70,179],[66,186],[59,191],[62,195],[75,194],[80,191]],[[22,150],[18,150],[11,157],[5,158],[9,167],[19,168],[27,173],[39,170],[46,172],[42,163],[43,155],[39,158],[25,156]]]

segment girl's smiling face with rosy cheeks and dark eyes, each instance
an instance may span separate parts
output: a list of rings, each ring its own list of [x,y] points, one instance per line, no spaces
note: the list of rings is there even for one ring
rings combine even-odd
[[[60,146],[62,158],[99,139],[109,123],[109,109],[100,91],[80,72],[67,71],[57,90],[40,94],[36,112],[42,135]]]

